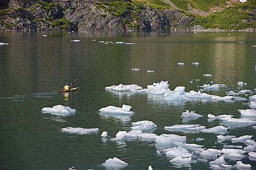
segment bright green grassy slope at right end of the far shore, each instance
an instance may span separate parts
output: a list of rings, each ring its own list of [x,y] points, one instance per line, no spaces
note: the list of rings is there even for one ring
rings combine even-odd
[[[191,13],[186,13],[186,15],[194,18],[190,26],[201,25],[205,29],[240,30],[256,28],[255,16],[248,12],[253,9],[256,9],[256,0],[225,8],[221,12],[211,13],[209,16],[194,15]]]

